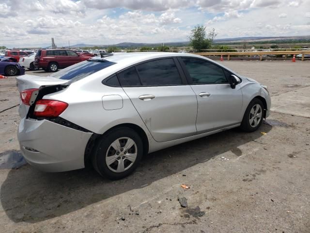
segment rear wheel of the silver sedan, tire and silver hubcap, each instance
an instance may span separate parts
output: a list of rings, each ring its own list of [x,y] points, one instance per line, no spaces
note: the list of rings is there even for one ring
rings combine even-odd
[[[139,134],[130,128],[121,127],[98,139],[92,162],[101,176],[118,180],[137,168],[142,155],[143,144]]]

